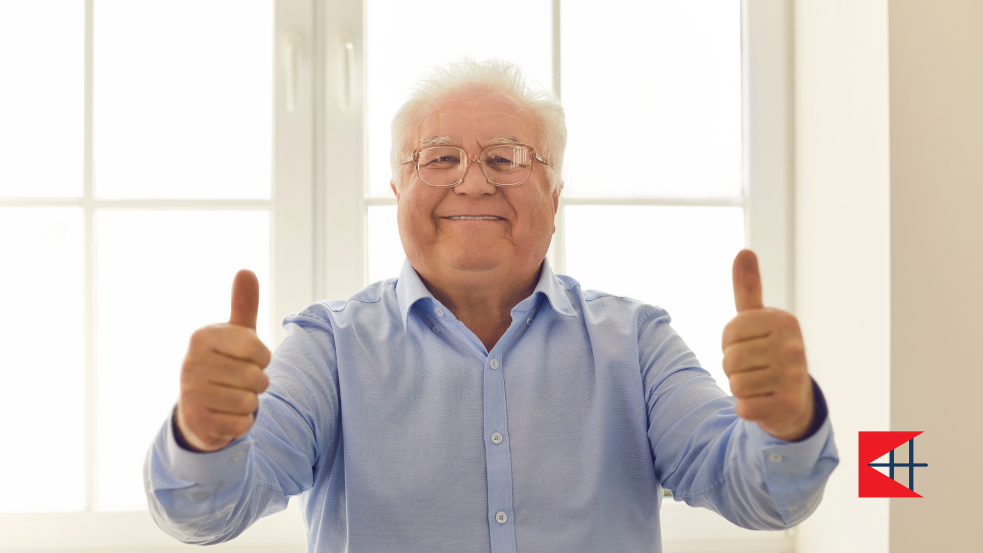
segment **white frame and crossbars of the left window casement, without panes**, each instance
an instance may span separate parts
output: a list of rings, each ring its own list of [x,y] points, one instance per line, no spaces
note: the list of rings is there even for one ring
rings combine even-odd
[[[0,514],[0,552],[31,550],[114,551],[154,547],[161,553],[184,551],[184,546],[161,531],[149,512],[97,507],[97,388],[96,388],[96,243],[95,213],[107,210],[145,211],[267,211],[270,215],[269,290],[261,290],[269,305],[267,322],[273,344],[284,333],[283,317],[296,313],[315,299],[314,177],[315,127],[323,65],[317,45],[318,4],[313,0],[275,0],[273,67],[273,159],[269,200],[99,199],[92,180],[92,21],[94,0],[85,1],[84,174],[81,198],[0,198],[0,207],[81,208],[84,221],[85,279],[85,394],[86,394],[86,506],[75,513]],[[294,55],[288,55],[288,49]],[[288,84],[288,79],[292,82]],[[289,96],[289,99],[288,99]],[[288,101],[291,105],[288,106]],[[232,275],[229,276],[231,283]],[[221,290],[220,293],[228,293]],[[5,455],[30,455],[8,444]],[[10,475],[15,476],[15,475]],[[306,533],[298,508],[258,522],[230,544],[231,550],[256,551],[258,546],[277,551],[304,551]]]

